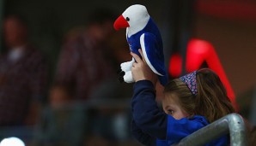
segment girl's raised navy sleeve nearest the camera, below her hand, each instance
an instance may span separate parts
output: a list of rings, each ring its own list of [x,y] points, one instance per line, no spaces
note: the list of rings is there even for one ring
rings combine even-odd
[[[139,129],[150,137],[166,139],[168,115],[158,108],[155,102],[155,87],[149,80],[135,83],[131,111]]]

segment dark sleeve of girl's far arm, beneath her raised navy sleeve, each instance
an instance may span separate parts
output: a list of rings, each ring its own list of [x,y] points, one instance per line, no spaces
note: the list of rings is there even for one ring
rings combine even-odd
[[[137,139],[138,142],[143,143],[147,146],[155,146],[155,138],[150,137],[149,134],[144,133],[141,129],[139,129],[134,120],[131,121],[131,133],[133,137]]]

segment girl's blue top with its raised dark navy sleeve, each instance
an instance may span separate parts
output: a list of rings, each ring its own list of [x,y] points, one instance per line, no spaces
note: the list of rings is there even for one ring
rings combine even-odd
[[[134,85],[134,95],[131,100],[131,133],[144,145],[169,146],[178,143],[194,131],[207,126],[203,116],[195,115],[190,119],[175,120],[163,113],[155,102],[155,88],[149,80],[141,80]],[[228,145],[227,136],[220,137],[206,146]]]

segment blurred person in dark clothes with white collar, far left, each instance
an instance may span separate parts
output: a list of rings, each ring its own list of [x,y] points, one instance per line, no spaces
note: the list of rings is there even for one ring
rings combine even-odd
[[[46,61],[28,42],[17,15],[3,21],[6,52],[0,57],[0,126],[34,124],[46,91]]]

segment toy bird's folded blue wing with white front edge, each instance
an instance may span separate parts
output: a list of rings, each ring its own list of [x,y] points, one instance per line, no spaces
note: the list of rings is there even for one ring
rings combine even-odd
[[[158,74],[162,85],[165,85],[168,81],[168,73],[164,65],[162,46],[157,43],[155,35],[149,32],[143,33],[141,35],[140,44],[143,50],[145,61],[151,70]]]

